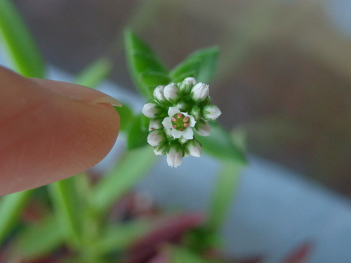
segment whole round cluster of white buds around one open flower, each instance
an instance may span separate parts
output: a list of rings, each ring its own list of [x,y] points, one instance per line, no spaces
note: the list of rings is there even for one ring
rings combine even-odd
[[[194,130],[201,136],[210,135],[208,121],[221,114],[211,105],[208,85],[191,77],[155,88],[154,101],[145,104],[142,112],[150,119],[147,142],[154,147],[154,154],[166,154],[168,166],[174,167],[180,166],[184,156],[201,156]]]

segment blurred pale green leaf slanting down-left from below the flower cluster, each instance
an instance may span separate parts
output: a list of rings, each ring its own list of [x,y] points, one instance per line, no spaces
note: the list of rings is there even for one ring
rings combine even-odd
[[[93,189],[92,202],[96,210],[105,211],[126,194],[157,160],[152,147],[147,145],[126,151],[121,161],[108,172]]]

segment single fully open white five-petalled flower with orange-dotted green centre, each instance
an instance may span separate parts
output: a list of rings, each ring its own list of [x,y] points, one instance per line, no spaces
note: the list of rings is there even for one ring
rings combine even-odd
[[[195,126],[195,119],[186,112],[180,112],[177,107],[169,107],[168,116],[164,118],[162,124],[164,128],[171,130],[173,138],[178,139],[184,137],[187,140],[192,140],[194,131],[192,127]]]

